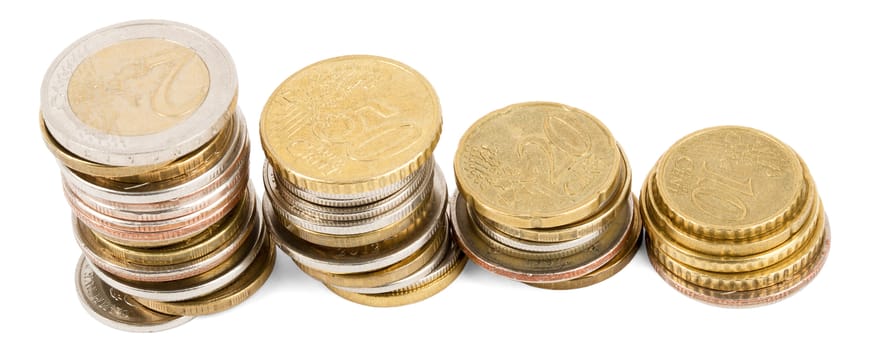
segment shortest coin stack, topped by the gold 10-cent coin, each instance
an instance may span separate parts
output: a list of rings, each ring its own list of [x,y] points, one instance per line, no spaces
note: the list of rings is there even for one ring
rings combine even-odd
[[[641,199],[653,267],[707,303],[778,301],[811,281],[829,253],[829,223],[808,168],[758,130],[715,127],[677,141]]]

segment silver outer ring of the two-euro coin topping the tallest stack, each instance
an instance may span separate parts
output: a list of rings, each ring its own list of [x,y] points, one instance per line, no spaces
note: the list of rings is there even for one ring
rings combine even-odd
[[[84,61],[102,50],[138,39],[166,41],[189,49],[197,55],[209,76],[202,102],[183,120],[146,135],[113,134],[87,124],[74,113],[69,101],[68,89],[74,74]],[[156,60],[156,65],[170,62],[182,66],[186,63],[174,61],[175,57],[161,57],[163,52],[152,54],[156,55],[151,57]],[[137,67],[136,63],[145,64],[142,61],[132,62],[129,68],[146,69]],[[175,66],[175,69],[179,68]],[[163,84],[151,92],[152,97],[167,102],[167,96],[162,94],[165,89],[169,89],[165,85],[173,83],[177,78],[176,72],[172,71],[173,74],[169,73],[165,77]],[[194,151],[216,136],[224,122],[233,114],[237,91],[237,73],[231,56],[212,36],[182,23],[140,20],[98,29],[70,45],[46,72],[40,97],[46,126],[64,148],[95,163],[142,166],[172,161]],[[105,112],[112,115],[111,110]],[[159,115],[160,111],[153,112]]]

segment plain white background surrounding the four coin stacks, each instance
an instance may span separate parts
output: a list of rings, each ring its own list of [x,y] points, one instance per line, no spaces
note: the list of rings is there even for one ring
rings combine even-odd
[[[878,10],[868,2],[198,3],[4,5],[0,347],[874,346]],[[470,264],[431,299],[379,309],[335,296],[280,255],[268,283],[230,311],[155,334],[108,328],[76,297],[79,251],[40,138],[39,91],[67,45],[142,18],[188,23],[226,46],[252,140],[268,96],[308,64],[373,54],[412,66],[442,104],[436,156],[451,186],[460,136],[512,103],[556,101],[601,119],[628,153],[635,191],[685,134],[723,124],[764,130],[811,168],[831,218],[829,260],[801,292],[751,309],[688,299],[659,278],[642,249],[621,273],[585,289],[540,290]],[[264,157],[253,144],[251,171],[259,174]]]

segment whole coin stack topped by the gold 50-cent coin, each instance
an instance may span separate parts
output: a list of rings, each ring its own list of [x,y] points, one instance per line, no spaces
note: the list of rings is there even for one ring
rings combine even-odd
[[[432,157],[441,127],[433,88],[402,63],[345,56],[293,74],[260,122],[263,213],[278,246],[357,303],[404,305],[444,289],[466,259]]]

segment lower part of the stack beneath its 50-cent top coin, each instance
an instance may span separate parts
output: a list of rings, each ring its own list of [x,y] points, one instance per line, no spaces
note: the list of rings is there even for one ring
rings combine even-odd
[[[317,194],[265,166],[263,213],[278,246],[350,301],[399,306],[448,286],[466,258],[448,234],[447,189],[432,160],[386,188]]]

